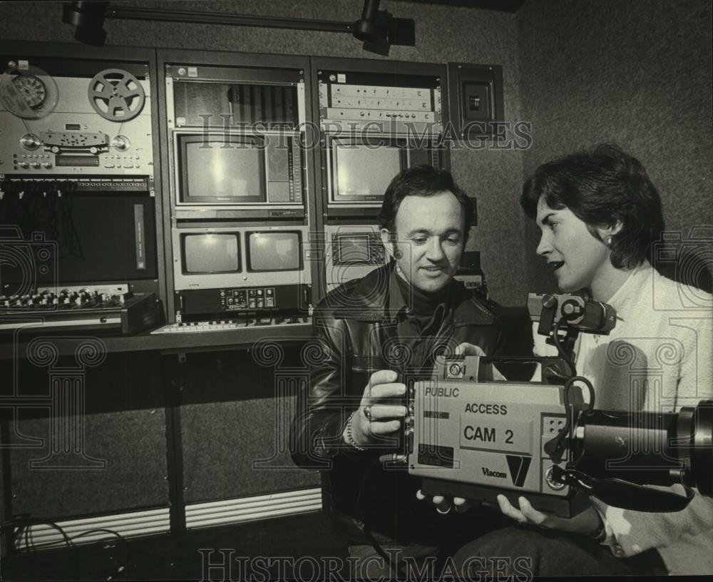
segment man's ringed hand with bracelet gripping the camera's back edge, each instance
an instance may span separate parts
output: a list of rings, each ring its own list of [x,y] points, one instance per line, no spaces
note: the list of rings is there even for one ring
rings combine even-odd
[[[399,374],[393,370],[379,370],[371,374],[369,384],[361,396],[359,409],[351,417],[352,439],[358,446],[376,444],[379,439],[401,429],[401,419],[406,416],[406,407],[389,404],[389,400],[406,395],[406,385],[396,382],[398,378]],[[344,441],[349,443],[347,429],[344,430]]]

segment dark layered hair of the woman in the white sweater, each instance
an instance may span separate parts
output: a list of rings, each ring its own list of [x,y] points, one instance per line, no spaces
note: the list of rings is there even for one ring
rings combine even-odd
[[[632,268],[649,258],[652,242],[665,227],[659,193],[641,162],[612,143],[540,165],[520,197],[530,218],[537,215],[540,198],[555,210],[569,208],[598,240],[597,226],[621,221],[610,245],[617,268]]]

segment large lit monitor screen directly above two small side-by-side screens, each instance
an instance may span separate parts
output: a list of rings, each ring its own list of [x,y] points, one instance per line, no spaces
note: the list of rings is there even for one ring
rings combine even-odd
[[[205,147],[205,145],[210,147]],[[222,140],[188,141],[185,146],[185,195],[190,198],[231,198],[235,202],[262,198],[262,150],[260,143]]]

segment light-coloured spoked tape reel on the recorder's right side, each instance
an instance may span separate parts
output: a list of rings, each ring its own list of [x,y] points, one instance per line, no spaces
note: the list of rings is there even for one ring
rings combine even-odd
[[[146,95],[138,79],[120,68],[99,71],[89,81],[92,108],[109,121],[129,121],[141,113]]]

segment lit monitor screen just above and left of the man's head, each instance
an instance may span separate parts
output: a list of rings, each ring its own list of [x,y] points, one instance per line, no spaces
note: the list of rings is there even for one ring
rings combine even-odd
[[[381,197],[401,171],[401,149],[395,146],[374,149],[335,143],[334,148],[339,196]]]

